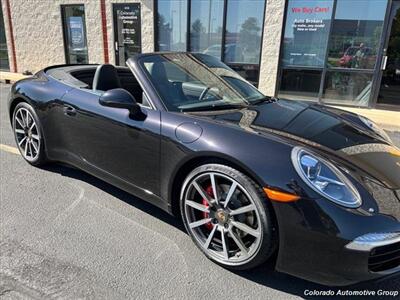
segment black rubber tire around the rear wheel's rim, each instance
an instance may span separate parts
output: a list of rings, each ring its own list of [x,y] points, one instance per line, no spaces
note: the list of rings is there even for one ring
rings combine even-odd
[[[36,130],[34,133],[35,133],[35,136],[36,135],[38,136],[38,140],[36,141],[36,142],[38,142],[38,151],[36,152],[36,155],[34,155],[34,157],[29,157],[24,154],[24,148],[23,148],[24,144],[19,145],[18,139],[21,139],[21,138],[20,138],[20,136],[18,136],[18,133],[16,132],[16,127],[20,127],[20,125],[17,125],[16,114],[17,114],[17,112],[25,111],[25,110],[27,110],[30,113],[30,117],[33,118],[33,120],[36,124]],[[15,106],[14,111],[13,111],[12,126],[13,126],[15,142],[17,144],[17,148],[18,148],[19,152],[21,153],[21,156],[32,166],[39,167],[39,166],[45,165],[48,162],[48,159],[47,159],[46,151],[45,151],[43,130],[42,130],[40,120],[39,120],[35,110],[33,109],[33,107],[26,102],[18,103]],[[35,145],[37,145],[37,144],[35,143]],[[32,147],[32,149],[34,149],[34,148]],[[34,151],[34,150],[31,150],[31,151]]]

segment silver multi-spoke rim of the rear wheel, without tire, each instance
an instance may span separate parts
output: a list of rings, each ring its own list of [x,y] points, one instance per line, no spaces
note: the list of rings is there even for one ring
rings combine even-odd
[[[24,158],[34,161],[40,152],[40,132],[32,114],[24,107],[14,115],[14,133],[18,148]]]

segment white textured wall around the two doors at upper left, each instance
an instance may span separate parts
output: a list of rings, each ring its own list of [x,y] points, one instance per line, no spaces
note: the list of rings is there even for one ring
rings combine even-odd
[[[4,1],[5,2],[5,1]],[[154,49],[153,1],[106,0],[108,53],[115,63],[112,3],[141,3],[142,51]],[[10,65],[11,45],[6,5],[3,3]],[[46,66],[64,64],[61,4],[84,4],[90,63],[104,63],[103,33],[99,0],[10,0],[18,72],[36,72]]]

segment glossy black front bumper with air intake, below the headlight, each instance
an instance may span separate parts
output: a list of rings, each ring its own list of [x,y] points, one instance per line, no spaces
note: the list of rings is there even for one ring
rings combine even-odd
[[[400,271],[397,219],[379,213],[362,214],[323,199],[273,205],[279,226],[278,271],[329,286],[355,284]],[[392,260],[390,264],[385,265],[386,258]]]

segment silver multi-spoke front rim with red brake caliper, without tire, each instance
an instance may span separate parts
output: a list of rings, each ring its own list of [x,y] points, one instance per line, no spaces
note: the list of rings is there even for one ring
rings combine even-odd
[[[243,265],[260,248],[263,231],[254,199],[231,177],[206,172],[192,179],[184,215],[201,248],[222,264]]]

